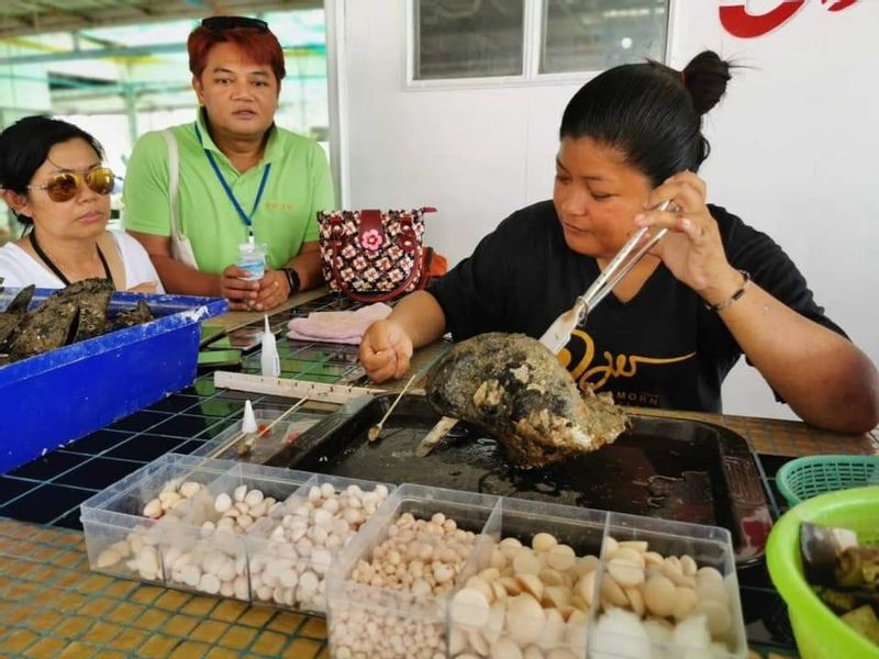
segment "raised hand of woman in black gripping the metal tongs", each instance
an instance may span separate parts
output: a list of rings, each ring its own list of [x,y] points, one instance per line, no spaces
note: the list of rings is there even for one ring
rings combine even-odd
[[[668,210],[656,206],[670,200]],[[653,209],[635,216],[638,226],[669,230],[652,253],[675,277],[709,304],[726,299],[742,284],[742,275],[726,260],[717,223],[705,205],[705,182],[681,171],[658,186],[647,201]]]

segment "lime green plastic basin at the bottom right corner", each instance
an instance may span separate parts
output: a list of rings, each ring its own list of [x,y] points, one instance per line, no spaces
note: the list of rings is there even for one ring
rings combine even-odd
[[[850,528],[863,544],[879,544],[879,487],[855,488],[810,499],[789,510],[772,527],[766,565],[788,605],[803,659],[877,659],[879,646],[855,632],[812,592],[803,577],[800,524]]]

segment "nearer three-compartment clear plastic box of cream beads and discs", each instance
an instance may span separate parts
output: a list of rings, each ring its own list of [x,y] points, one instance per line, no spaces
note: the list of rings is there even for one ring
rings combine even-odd
[[[363,572],[407,507],[452,515],[445,491],[420,488],[411,496],[411,488],[401,485],[338,557],[327,590],[336,657],[747,655],[732,539],[717,527],[455,492],[474,498],[464,504],[465,524],[477,530],[485,523],[453,589],[416,596],[356,582],[355,570]],[[630,565],[638,560],[639,574]],[[661,574],[650,563],[666,560],[680,568],[679,583],[670,602],[656,605],[657,593],[644,588]],[[422,641],[413,647],[412,638]]]

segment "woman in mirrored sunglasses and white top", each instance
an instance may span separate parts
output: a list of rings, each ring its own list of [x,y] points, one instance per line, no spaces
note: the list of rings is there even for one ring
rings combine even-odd
[[[27,116],[0,134],[0,194],[31,228],[0,248],[3,286],[100,277],[118,290],[164,292],[141,244],[107,230],[115,177],[102,160],[98,141],[65,121]]]

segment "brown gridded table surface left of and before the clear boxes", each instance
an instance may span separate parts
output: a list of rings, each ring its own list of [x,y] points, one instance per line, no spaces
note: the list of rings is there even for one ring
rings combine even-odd
[[[312,659],[325,636],[319,618],[90,572],[81,533],[0,520],[0,656]]]

